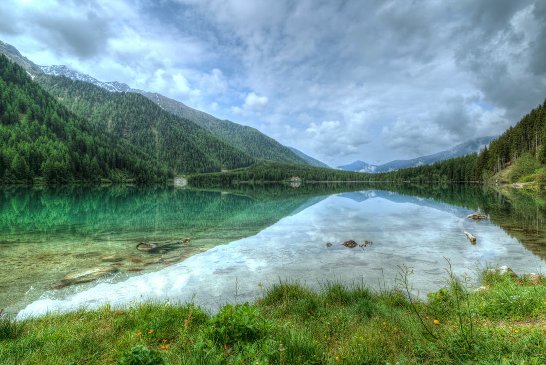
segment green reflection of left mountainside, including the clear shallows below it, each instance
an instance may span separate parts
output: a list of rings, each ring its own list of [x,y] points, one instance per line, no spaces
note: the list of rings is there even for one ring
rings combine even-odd
[[[0,303],[11,314],[61,286],[76,269],[115,266],[114,280],[161,269],[213,246],[254,236],[349,185],[243,186],[224,191],[173,186],[9,186],[0,191]],[[361,189],[358,188],[358,189]],[[189,237],[189,244],[177,244]],[[140,252],[139,242],[165,243]],[[106,259],[105,257],[112,257]],[[113,261],[108,261],[113,260]],[[95,285],[82,284],[82,287]],[[10,303],[8,308],[5,303]]]

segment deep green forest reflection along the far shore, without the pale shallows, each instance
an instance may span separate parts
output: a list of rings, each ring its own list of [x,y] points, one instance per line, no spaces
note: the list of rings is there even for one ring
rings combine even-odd
[[[535,242],[544,232],[546,196],[518,189],[501,192],[488,185],[334,182],[294,188],[239,184],[207,191],[160,185],[8,186],[0,192],[0,246],[30,238],[26,235],[32,236],[33,242],[46,242],[59,235],[101,239],[120,233],[120,228],[135,240],[176,238],[173,232],[184,237],[203,236],[226,225],[259,232],[298,208],[313,204],[311,198],[366,190],[481,210],[493,223],[526,242]]]

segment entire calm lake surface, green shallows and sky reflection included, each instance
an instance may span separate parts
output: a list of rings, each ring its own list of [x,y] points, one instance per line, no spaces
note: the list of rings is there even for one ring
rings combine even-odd
[[[414,268],[414,294],[424,297],[446,285],[446,258],[471,279],[496,265],[543,272],[544,205],[513,194],[510,201],[479,185],[4,187],[0,308],[22,318],[151,298],[216,311],[279,280],[392,288],[404,264]],[[490,219],[466,218],[478,210]],[[349,239],[372,243],[351,249],[342,245]],[[158,248],[139,251],[141,242]],[[97,266],[116,272],[62,282]]]

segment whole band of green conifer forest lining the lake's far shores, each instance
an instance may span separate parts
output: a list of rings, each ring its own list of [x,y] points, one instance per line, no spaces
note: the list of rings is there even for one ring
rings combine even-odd
[[[257,160],[140,94],[112,93],[62,76],[32,80],[3,55],[0,92],[2,182],[153,182],[186,174],[191,174],[189,182],[209,186],[292,176],[303,181],[465,182],[488,181],[511,167],[509,181],[546,184],[546,101],[479,154],[371,174]]]

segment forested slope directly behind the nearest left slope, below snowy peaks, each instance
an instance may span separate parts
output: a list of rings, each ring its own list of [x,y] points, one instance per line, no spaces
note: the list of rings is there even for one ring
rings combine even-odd
[[[244,151],[137,93],[108,92],[64,76],[40,75],[36,80],[76,115],[167,162],[175,174],[215,172],[253,162]]]

